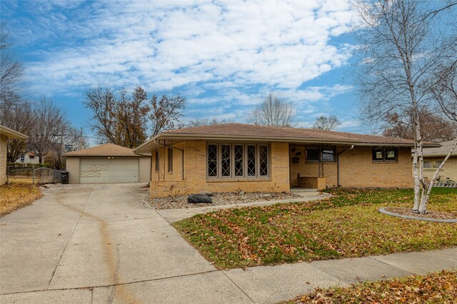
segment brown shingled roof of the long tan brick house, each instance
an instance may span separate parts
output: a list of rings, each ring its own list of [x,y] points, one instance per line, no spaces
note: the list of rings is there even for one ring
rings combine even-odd
[[[243,123],[223,123],[195,128],[182,128],[164,131],[136,148],[136,153],[157,148],[157,140],[252,140],[252,141],[286,141],[290,143],[334,143],[353,145],[379,146],[414,146],[414,142],[403,138],[391,138],[356,134],[338,131],[326,131],[309,128],[277,128],[271,126],[255,126]],[[149,146],[149,147],[148,147]],[[424,146],[436,147],[436,143],[424,143]],[[151,151],[151,150],[149,150]]]

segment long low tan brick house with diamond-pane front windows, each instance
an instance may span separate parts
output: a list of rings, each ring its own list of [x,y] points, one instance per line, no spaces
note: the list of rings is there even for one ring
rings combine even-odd
[[[165,131],[134,151],[151,154],[151,196],[161,197],[294,187],[409,188],[411,147],[413,141],[401,138],[227,123]]]

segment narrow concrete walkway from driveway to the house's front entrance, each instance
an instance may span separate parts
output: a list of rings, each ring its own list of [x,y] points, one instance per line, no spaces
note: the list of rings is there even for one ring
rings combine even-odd
[[[232,204],[232,205],[221,205],[221,206],[208,206],[208,207],[196,207],[196,208],[185,208],[185,209],[156,209],[157,213],[160,214],[165,221],[169,223],[174,223],[181,221],[184,218],[191,218],[197,214],[209,213],[212,211],[218,211],[221,209],[231,209],[231,208],[243,208],[243,207],[252,207],[252,206],[270,206],[277,203],[301,203],[307,201],[317,201],[324,198],[330,198],[331,194],[315,191],[307,191],[306,189],[292,189],[292,193],[300,196],[300,198],[291,198],[286,200],[278,201],[259,201],[253,203],[243,203],[243,204]]]

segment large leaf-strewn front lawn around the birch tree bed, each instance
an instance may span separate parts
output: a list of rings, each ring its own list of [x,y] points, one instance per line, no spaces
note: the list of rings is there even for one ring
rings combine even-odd
[[[413,192],[334,190],[324,201],[234,208],[174,224],[219,268],[351,258],[457,245],[457,224],[379,213],[411,207]],[[457,189],[436,188],[428,208],[457,215]]]

